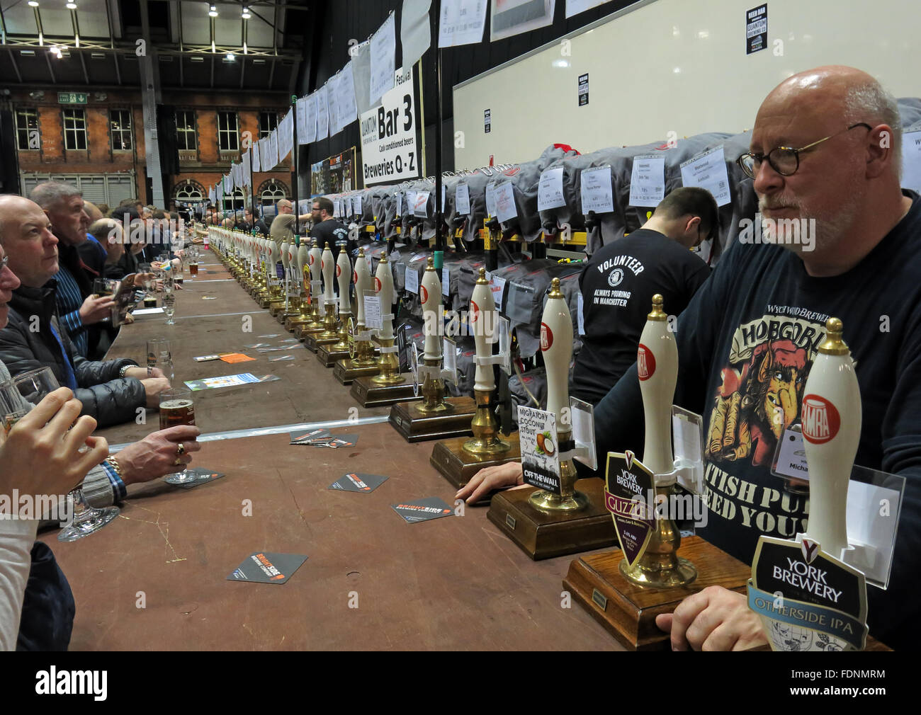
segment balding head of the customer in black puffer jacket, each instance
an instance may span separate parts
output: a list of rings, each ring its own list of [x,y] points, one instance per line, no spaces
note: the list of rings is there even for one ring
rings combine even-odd
[[[57,238],[51,222],[35,202],[21,196],[0,196],[0,244],[9,268],[32,288],[48,283],[58,271]]]

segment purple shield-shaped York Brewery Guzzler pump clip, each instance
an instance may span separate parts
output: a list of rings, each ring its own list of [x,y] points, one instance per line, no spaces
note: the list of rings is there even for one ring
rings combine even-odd
[[[608,453],[604,505],[611,512],[617,540],[631,567],[643,556],[656,528],[656,514],[647,506],[648,495],[655,495],[655,484],[652,472],[633,452]]]

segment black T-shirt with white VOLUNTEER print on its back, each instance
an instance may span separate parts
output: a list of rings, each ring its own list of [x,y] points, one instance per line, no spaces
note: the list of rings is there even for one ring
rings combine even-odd
[[[593,254],[579,276],[585,336],[573,396],[597,404],[635,363],[653,295],[662,294],[665,311],[677,316],[709,275],[687,248],[646,228]]]

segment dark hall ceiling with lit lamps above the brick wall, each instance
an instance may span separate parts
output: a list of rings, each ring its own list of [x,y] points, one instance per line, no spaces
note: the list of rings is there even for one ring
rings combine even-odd
[[[245,5],[228,0],[74,0],[76,9],[68,9],[68,0],[33,1],[38,6],[0,0],[0,77],[6,86],[136,87],[138,54],[152,50],[161,89],[290,93],[317,5],[305,0]],[[217,17],[209,16],[211,5]],[[244,6],[251,17],[241,17]]]

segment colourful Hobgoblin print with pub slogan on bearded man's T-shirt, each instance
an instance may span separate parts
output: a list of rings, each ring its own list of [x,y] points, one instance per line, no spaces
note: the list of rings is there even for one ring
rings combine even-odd
[[[828,432],[832,410],[819,398],[804,407],[806,379],[827,318],[802,307],[766,306],[762,317],[735,329],[726,343],[726,363],[714,368],[704,474],[711,518],[701,535],[709,533],[733,555],[752,553],[762,534],[789,539],[808,525],[808,495],[788,490],[771,474],[771,463],[791,425],[802,421],[804,436],[814,425],[810,433],[820,439],[837,429]]]

